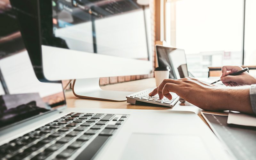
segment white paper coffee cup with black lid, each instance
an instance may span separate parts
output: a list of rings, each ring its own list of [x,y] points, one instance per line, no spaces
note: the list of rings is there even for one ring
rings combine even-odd
[[[167,67],[157,67],[155,69],[155,78],[156,78],[156,86],[159,86],[163,82],[164,79],[169,78],[170,68]]]

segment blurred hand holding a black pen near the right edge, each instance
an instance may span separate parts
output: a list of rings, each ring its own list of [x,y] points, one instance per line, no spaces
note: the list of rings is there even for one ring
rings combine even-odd
[[[242,69],[243,69],[242,67],[238,67],[238,66],[223,66],[221,69],[222,75],[220,76],[220,80],[225,85],[256,84],[256,79],[253,76],[249,75],[248,72],[243,72],[237,76],[229,76],[230,74],[238,72]]]

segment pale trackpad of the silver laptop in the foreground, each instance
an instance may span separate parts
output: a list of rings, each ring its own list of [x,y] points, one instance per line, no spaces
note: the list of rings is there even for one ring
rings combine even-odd
[[[121,159],[211,159],[203,141],[194,135],[133,133]]]

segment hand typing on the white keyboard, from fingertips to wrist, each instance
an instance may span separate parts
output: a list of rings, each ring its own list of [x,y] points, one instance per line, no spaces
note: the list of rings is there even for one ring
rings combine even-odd
[[[174,92],[180,96],[180,98],[196,105],[199,108],[205,110],[219,110],[219,106],[214,105],[216,103],[216,97],[212,96],[213,94],[219,94],[217,93],[217,89],[219,88],[220,87],[213,84],[190,77],[178,80],[164,79],[156,89],[149,93],[149,96],[154,96],[158,93],[160,99],[166,97],[171,100],[172,95],[170,92]]]

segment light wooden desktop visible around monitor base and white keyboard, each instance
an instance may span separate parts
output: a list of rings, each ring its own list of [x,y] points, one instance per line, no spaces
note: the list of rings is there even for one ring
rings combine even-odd
[[[106,86],[102,86],[101,88],[104,90],[139,92],[139,91],[142,91],[148,88],[154,88],[154,87],[156,87],[155,78],[148,78],[148,79],[141,79],[141,80],[136,80],[131,82],[109,84]],[[170,109],[168,107],[161,107],[161,106],[159,107],[158,105],[153,105],[149,103],[140,103],[140,104],[133,105],[133,104],[127,103],[126,101],[113,102],[113,101],[105,101],[105,100],[81,99],[81,98],[75,97],[72,91],[66,91],[65,95],[66,95],[68,108],[81,107],[81,108],[112,108],[112,109],[157,109],[157,110]],[[171,110],[195,112],[206,123],[203,116],[201,115],[202,109],[188,102],[180,103],[180,101],[178,101]]]

